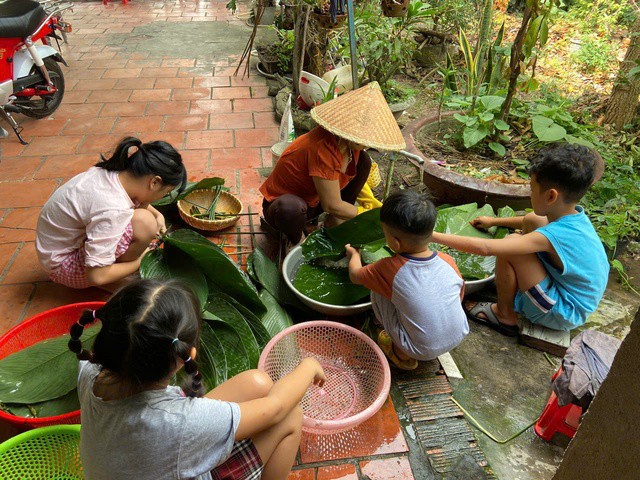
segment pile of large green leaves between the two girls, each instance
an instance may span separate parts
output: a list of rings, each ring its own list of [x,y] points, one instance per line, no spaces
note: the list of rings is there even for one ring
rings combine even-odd
[[[291,318],[269,292],[258,292],[219,246],[191,230],[162,239],[164,248],[147,253],[143,278],[177,278],[189,285],[202,306],[199,367],[207,389],[255,368],[271,337]]]

